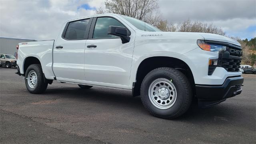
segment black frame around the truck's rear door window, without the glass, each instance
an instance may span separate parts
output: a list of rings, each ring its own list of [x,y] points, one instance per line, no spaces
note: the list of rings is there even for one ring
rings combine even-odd
[[[85,30],[85,34],[84,34],[84,38],[80,38],[80,39],[72,39],[72,40],[87,40],[88,39],[88,35],[89,35],[89,30],[92,24],[92,19],[93,18],[84,18],[84,19],[80,19],[80,20],[74,20],[74,21],[70,21],[70,22],[77,22],[77,21],[81,21],[81,20],[89,20],[88,25],[86,26],[86,30]],[[70,40],[70,39],[66,39],[65,35],[68,29],[68,25],[70,24],[70,22],[66,23],[66,26],[62,32],[61,38],[63,38],[64,40]]]

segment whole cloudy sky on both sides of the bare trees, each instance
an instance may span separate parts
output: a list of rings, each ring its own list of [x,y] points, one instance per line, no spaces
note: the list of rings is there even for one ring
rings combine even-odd
[[[256,36],[256,0],[159,0],[162,17],[213,23],[227,36]],[[0,0],[0,36],[56,39],[66,20],[94,14],[104,0]]]

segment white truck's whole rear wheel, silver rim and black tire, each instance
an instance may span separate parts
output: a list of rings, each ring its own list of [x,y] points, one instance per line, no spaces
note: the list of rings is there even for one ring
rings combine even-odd
[[[28,66],[25,78],[26,87],[32,94],[40,94],[44,92],[48,86],[48,82],[45,80],[42,68],[39,64],[31,64]]]

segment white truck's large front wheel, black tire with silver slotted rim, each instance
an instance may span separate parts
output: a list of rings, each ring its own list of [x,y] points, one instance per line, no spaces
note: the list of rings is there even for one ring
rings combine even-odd
[[[145,108],[160,118],[181,116],[192,102],[188,79],[174,68],[156,68],[149,72],[142,81],[140,92]]]

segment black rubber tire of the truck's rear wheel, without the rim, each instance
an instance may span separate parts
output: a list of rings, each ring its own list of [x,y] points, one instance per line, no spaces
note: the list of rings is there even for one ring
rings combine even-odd
[[[37,76],[37,82],[34,88],[31,88],[28,84],[28,74],[32,70],[36,72],[36,76]],[[28,92],[30,92],[31,94],[41,94],[46,90],[48,86],[48,82],[44,77],[40,64],[31,64],[30,66],[28,66],[28,69],[26,70],[26,74],[25,74],[25,84],[28,89]]]

